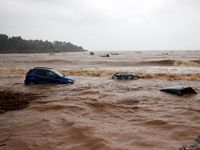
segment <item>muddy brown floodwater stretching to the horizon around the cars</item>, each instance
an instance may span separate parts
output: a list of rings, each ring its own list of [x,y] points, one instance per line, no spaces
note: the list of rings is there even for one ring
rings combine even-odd
[[[89,52],[0,54],[1,89],[45,96],[28,108],[0,115],[0,149],[178,149],[200,135],[200,68],[194,61],[199,56],[199,51],[121,52],[110,58]],[[24,86],[24,74],[34,66],[69,72],[76,82]],[[110,77],[115,71],[163,76],[115,81]],[[168,78],[171,73],[174,78]],[[188,76],[177,78],[177,74]],[[175,85],[192,86],[198,94],[159,91]]]

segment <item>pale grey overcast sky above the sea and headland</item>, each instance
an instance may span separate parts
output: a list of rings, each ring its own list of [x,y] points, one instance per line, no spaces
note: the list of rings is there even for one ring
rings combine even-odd
[[[88,50],[200,49],[200,0],[0,0],[0,33]]]

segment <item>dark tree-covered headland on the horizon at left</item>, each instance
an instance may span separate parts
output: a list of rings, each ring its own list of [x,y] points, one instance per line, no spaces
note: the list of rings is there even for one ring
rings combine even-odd
[[[49,52],[82,52],[81,46],[70,42],[24,40],[20,36],[8,37],[0,34],[0,53],[49,53]]]

